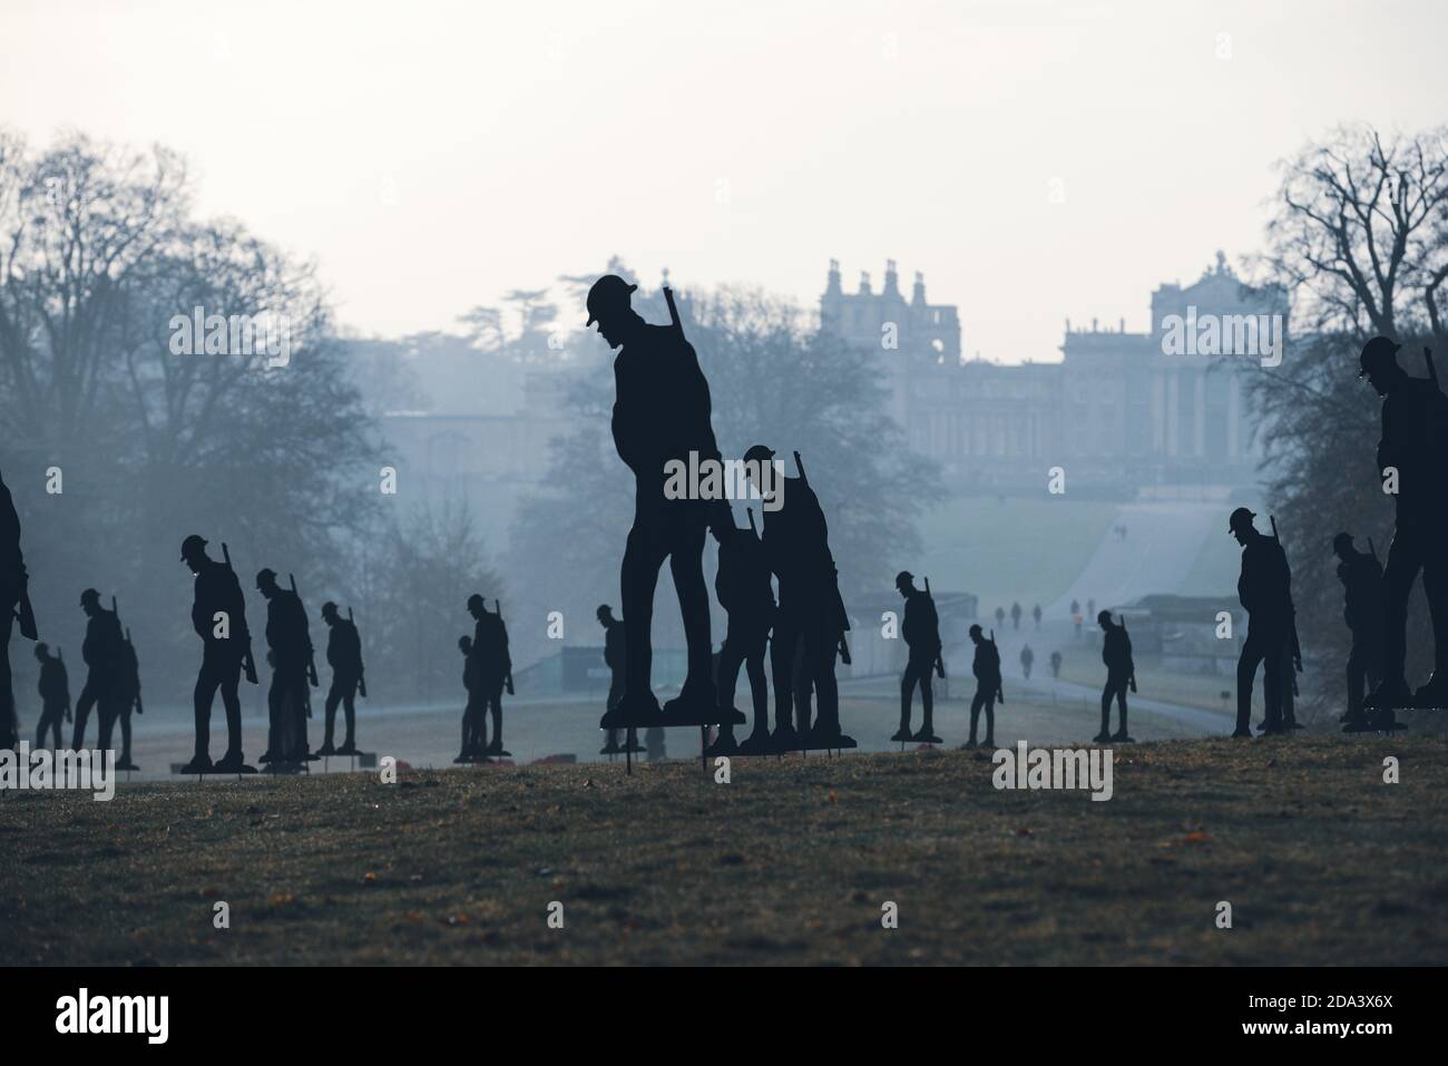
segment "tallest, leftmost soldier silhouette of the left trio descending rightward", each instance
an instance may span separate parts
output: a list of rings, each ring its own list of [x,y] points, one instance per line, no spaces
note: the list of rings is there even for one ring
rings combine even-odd
[[[195,755],[182,773],[255,773],[242,752],[242,701],[236,694],[245,669],[246,679],[256,684],[252,662],[252,634],[246,627],[246,597],[242,582],[232,569],[230,556],[217,562],[206,553],[206,540],[193,533],[181,542],[181,562],[194,575],[191,600],[191,629],[201,637],[201,671],[195,678],[193,708],[195,713]],[[226,546],[223,545],[223,552]],[[211,763],[211,704],[217,691],[226,710],[226,753]]]

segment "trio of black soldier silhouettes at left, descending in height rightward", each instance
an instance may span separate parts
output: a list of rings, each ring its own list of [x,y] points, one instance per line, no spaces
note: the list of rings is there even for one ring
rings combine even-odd
[[[230,553],[222,545],[223,559],[217,562],[206,553],[207,542],[193,533],[181,542],[181,562],[195,575],[191,603],[191,626],[201,639],[201,671],[195,679],[195,755],[182,773],[252,773],[242,750],[242,704],[237,695],[245,675],[258,684],[256,662],[252,658],[252,634],[246,624],[246,598],[242,584],[232,569]],[[307,623],[307,608],[297,594],[297,582],[282,588],[277,572],[256,574],[256,589],[266,600],[266,662],[272,668],[266,692],[268,730],[266,750],[258,762],[271,769],[300,768],[329,755],[356,753],[356,697],[366,695],[362,665],[362,642],[350,617],[343,618],[334,603],[321,605],[327,623],[327,662],[332,666],[332,688],[326,700],[326,736],[316,752],[307,739],[307,718],[311,717],[311,688],[319,685],[316,655]],[[350,616],[350,611],[348,613]],[[211,704],[222,694],[226,710],[226,752],[211,762]],[[333,743],[337,707],[346,714],[346,737]]]

